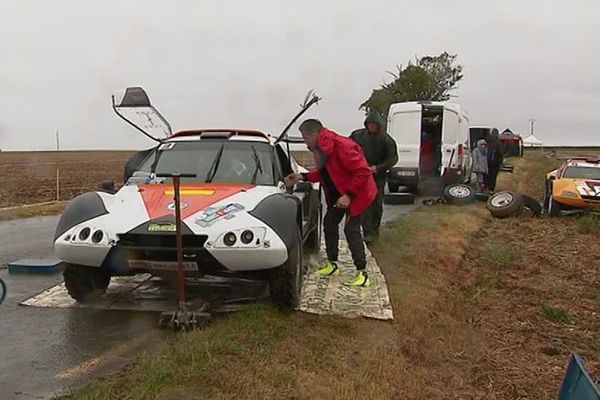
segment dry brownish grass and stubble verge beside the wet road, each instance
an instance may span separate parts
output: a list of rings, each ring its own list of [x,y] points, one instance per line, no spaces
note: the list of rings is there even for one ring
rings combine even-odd
[[[541,198],[555,163],[517,160],[500,189]],[[372,249],[394,321],[260,305],[174,336],[70,398],[556,398],[570,352],[600,374],[600,266],[589,257],[600,248],[578,223],[422,208]]]

